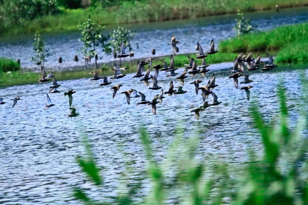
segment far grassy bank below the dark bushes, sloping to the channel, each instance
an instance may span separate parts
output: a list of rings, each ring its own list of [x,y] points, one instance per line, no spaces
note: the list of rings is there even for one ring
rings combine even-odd
[[[196,5],[194,0],[142,0],[136,2],[123,1],[119,5],[109,7],[62,9],[62,12],[55,16],[43,16],[31,21],[25,21],[22,25],[0,28],[0,34],[32,34],[35,31],[40,31],[41,33],[77,31],[77,25],[86,21],[88,15],[91,15],[95,22],[98,21],[104,25],[116,25],[233,14],[237,13],[238,9],[244,12],[274,10],[275,5],[279,5],[280,8],[288,8],[307,6],[308,3],[306,0],[202,0],[196,6],[192,5]]]

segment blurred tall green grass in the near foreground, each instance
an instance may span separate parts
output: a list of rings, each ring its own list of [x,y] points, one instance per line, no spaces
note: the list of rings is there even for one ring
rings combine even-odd
[[[302,86],[303,100],[307,103],[306,82]],[[257,156],[251,147],[249,161],[232,167],[231,164],[210,164],[198,156],[198,137],[184,138],[184,130],[177,129],[164,160],[155,160],[155,150],[146,128],[140,128],[140,141],[147,162],[145,181],[150,182],[146,197],[140,198],[140,186],[132,186],[112,197],[112,201],[94,202],[87,191],[75,188],[74,196],[84,204],[234,204],[234,205],[290,205],[308,203],[307,112],[302,108],[298,121],[290,122],[285,88],[278,87],[280,111],[270,121],[258,110],[257,102],[251,104],[253,127],[259,132],[263,155]],[[289,123],[296,126],[290,126]],[[293,129],[291,129],[293,127]],[[86,138],[85,138],[86,139]],[[84,142],[87,158],[77,157],[81,170],[94,185],[103,183],[97,163],[92,157],[87,141]],[[259,153],[259,152],[258,152]],[[214,166],[210,166],[214,165]],[[131,170],[133,171],[133,170]],[[102,179],[102,180],[100,180]],[[94,186],[93,185],[93,186]],[[125,187],[125,186],[124,186]],[[103,194],[108,195],[104,192]]]

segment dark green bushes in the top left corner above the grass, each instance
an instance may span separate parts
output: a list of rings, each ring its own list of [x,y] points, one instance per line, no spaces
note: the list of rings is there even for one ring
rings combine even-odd
[[[0,19],[3,20],[2,26],[6,28],[43,15],[58,13],[56,0],[2,0],[0,2]]]

